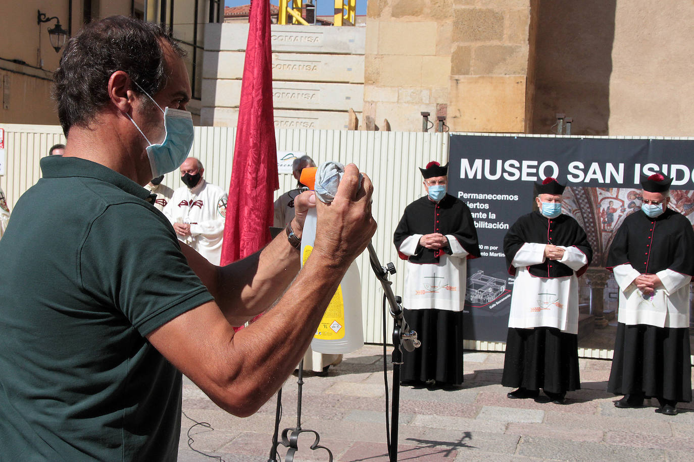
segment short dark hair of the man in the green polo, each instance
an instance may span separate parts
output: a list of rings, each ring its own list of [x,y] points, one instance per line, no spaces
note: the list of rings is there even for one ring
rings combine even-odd
[[[108,79],[115,71],[128,73],[152,96],[164,88],[162,43],[185,55],[162,26],[126,16],[91,22],[72,37],[53,75],[53,98],[65,136],[72,125],[88,125],[108,105]],[[133,91],[141,94],[137,85]]]

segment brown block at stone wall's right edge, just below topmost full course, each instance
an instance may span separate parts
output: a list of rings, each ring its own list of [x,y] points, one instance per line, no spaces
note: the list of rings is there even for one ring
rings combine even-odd
[[[524,75],[527,73],[527,47],[475,46],[471,73],[473,75]]]

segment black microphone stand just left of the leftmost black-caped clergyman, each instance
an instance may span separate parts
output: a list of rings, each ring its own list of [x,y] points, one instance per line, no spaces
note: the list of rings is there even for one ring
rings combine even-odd
[[[395,274],[395,265],[388,263],[382,267],[373,245],[369,242],[369,261],[371,269],[376,278],[381,282],[385,298],[390,305],[390,314],[393,317],[393,353],[391,362],[393,363],[393,399],[391,402],[391,437],[388,447],[390,462],[398,461],[398,419],[400,418],[400,366],[403,364],[403,351],[400,346],[407,351],[414,351],[414,348],[421,346],[421,341],[417,339],[417,332],[409,330],[407,322],[403,317],[403,305],[400,305],[400,297],[393,295],[391,281],[388,281],[389,274]],[[383,339],[385,342],[385,339]]]

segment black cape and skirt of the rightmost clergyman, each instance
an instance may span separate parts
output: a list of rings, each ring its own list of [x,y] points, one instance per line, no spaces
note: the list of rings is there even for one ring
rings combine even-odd
[[[694,274],[691,222],[670,208],[655,218],[648,217],[643,211],[632,213],[625,218],[612,240],[607,269],[625,263],[641,274],[671,269],[691,276]],[[690,350],[688,327],[620,322],[607,391],[689,402]]]

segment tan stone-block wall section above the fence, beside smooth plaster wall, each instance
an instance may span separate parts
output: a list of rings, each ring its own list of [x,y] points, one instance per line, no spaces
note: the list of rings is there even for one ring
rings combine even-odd
[[[369,0],[364,118],[524,132],[530,0]]]

